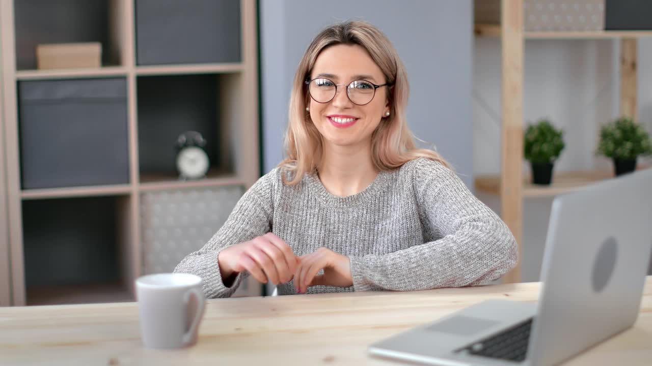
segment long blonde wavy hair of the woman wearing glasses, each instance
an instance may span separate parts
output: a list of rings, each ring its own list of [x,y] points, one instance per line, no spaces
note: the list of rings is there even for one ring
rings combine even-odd
[[[389,87],[387,98],[389,117],[381,120],[372,133],[372,161],[376,169],[389,171],[410,160],[425,157],[449,167],[434,150],[417,148],[413,134],[405,118],[408,104],[408,75],[396,49],[378,28],[365,21],[344,21],[321,30],[312,40],[297,67],[289,100],[289,123],[285,136],[286,158],[279,163],[284,172],[283,182],[295,185],[304,174],[314,173],[321,163],[323,139],[306,112],[308,86],[304,81],[310,77],[319,53],[337,44],[362,46],[385,76]]]

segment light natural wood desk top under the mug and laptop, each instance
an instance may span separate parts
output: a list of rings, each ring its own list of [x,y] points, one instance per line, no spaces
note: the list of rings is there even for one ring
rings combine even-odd
[[[0,308],[0,365],[402,365],[366,346],[488,298],[535,301],[538,283],[420,292],[209,300],[192,348],[141,347],[136,303]],[[633,328],[568,365],[652,363],[652,277]]]

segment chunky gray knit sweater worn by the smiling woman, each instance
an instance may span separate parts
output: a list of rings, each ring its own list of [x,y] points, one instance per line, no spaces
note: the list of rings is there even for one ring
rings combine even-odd
[[[482,285],[516,264],[516,240],[505,223],[441,163],[412,160],[348,197],[329,193],[316,174],[297,186],[282,183],[281,174],[276,168],[261,177],[213,238],[175,268],[202,277],[207,298],[231,296],[248,275],[225,287],[220,250],[269,231],[296,255],[323,246],[351,260],[353,286],[308,293]],[[295,294],[292,282],[278,294]]]

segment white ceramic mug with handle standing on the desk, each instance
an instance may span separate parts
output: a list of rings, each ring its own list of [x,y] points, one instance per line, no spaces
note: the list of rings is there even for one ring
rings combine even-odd
[[[205,296],[201,277],[193,274],[152,274],[136,279],[140,333],[147,348],[193,345],[203,317]],[[194,309],[190,309],[192,298]]]

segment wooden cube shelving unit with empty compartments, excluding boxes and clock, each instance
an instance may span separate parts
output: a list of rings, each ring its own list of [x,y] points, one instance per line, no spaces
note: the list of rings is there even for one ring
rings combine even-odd
[[[138,1],[54,0],[45,7],[35,0],[0,2],[0,111],[5,124],[0,128],[5,147],[0,149],[0,305],[134,300],[134,279],[144,274],[146,254],[143,195],[233,186],[246,189],[259,177],[256,0],[239,1],[240,18],[230,22],[237,24],[231,34],[238,37],[239,62],[142,66],[137,55]],[[233,3],[207,4],[232,11]],[[102,43],[102,67],[35,69],[37,44],[89,41]],[[22,188],[18,85],[115,77],[126,81],[128,182]],[[209,141],[211,169],[200,180],[179,180],[175,171],[173,146],[186,130],[198,130]],[[55,243],[65,243],[60,252]],[[76,250],[65,251],[71,248]],[[64,263],[48,263],[42,258],[44,253],[59,255]],[[62,269],[50,267],[76,268],[70,266],[75,262],[71,256],[80,253],[95,260],[80,261],[92,264],[85,269],[88,272],[72,271],[66,278],[57,278]],[[104,253],[106,260],[93,253]],[[98,275],[102,266],[108,271],[104,277]],[[38,280],[43,278],[52,281]],[[252,279],[237,296],[257,295],[260,289]]]

